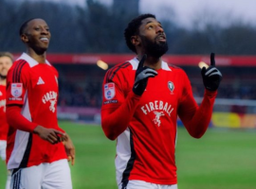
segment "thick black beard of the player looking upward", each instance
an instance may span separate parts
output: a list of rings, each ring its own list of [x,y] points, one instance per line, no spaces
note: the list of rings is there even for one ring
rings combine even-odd
[[[162,57],[168,51],[168,43],[166,42],[151,42],[150,40],[146,39],[144,36],[140,36],[142,39],[142,43],[145,47],[146,54],[148,56],[154,58]]]

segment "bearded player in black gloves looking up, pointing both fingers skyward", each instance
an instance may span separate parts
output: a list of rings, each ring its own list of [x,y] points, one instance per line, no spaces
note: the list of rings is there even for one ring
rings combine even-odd
[[[206,90],[198,107],[186,73],[161,59],[168,44],[155,15],[138,16],[124,35],[137,57],[106,73],[101,107],[102,129],[107,138],[117,139],[119,189],[176,189],[177,116],[192,137],[202,137],[221,73],[212,55],[212,65],[201,71]]]

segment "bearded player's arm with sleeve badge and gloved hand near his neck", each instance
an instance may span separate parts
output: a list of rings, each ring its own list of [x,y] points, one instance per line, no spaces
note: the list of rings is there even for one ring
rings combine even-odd
[[[144,55],[138,62],[133,90],[126,97],[124,97],[123,89],[120,87],[122,86],[120,82],[127,79],[123,77],[125,74],[119,77],[117,76],[119,69],[114,72],[109,70],[104,78],[101,126],[106,137],[110,140],[115,140],[128,127],[136,111],[140,96],[147,87],[148,78],[157,75],[154,69],[147,66],[144,67],[146,59],[147,56]],[[112,75],[109,73],[112,73]],[[107,78],[109,76],[113,76],[111,80]],[[107,81],[110,81],[110,83],[107,83]],[[126,89],[126,91],[128,90]]]

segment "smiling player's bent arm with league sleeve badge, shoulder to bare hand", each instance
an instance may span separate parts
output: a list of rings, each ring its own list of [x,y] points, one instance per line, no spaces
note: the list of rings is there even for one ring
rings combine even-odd
[[[60,137],[64,137],[64,133],[56,129],[46,129],[27,120],[22,112],[22,107],[26,97],[27,83],[29,83],[29,73],[27,64],[24,60],[14,62],[9,69],[7,77],[7,121],[10,127],[20,129],[27,132],[34,132],[42,139],[51,144],[55,144]],[[65,137],[64,137],[65,138]]]

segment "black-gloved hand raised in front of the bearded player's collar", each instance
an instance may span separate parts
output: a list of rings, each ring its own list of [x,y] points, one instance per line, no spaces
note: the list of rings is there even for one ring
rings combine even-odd
[[[137,95],[142,95],[144,93],[148,84],[148,78],[157,75],[157,72],[154,69],[148,66],[143,66],[146,59],[147,55],[145,54],[137,65],[135,84],[133,87],[133,92]]]

